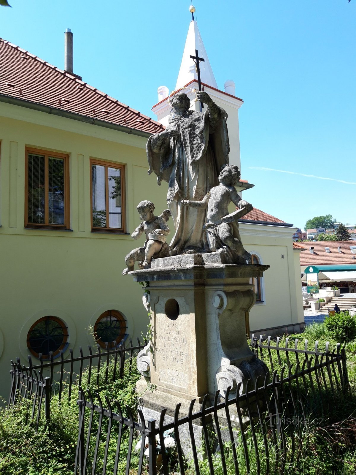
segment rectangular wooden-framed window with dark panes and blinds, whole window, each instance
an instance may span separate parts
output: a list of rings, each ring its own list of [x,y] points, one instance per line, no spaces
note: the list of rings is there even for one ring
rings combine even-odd
[[[26,148],[25,228],[69,229],[69,156]]]

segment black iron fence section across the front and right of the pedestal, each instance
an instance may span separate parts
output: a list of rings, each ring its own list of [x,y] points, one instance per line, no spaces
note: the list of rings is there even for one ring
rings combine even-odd
[[[192,400],[183,417],[178,404],[174,414],[164,409],[146,420],[140,409],[134,415],[80,388],[75,475],[286,472],[301,455],[303,424],[335,408],[349,384],[341,345],[319,352],[318,343],[311,351],[308,342],[304,350],[279,342],[252,339],[256,356],[272,368],[264,380],[206,395],[199,405]]]

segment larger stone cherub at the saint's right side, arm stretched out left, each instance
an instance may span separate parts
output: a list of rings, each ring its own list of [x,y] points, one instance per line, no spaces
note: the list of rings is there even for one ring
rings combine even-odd
[[[181,204],[192,208],[207,208],[204,225],[206,251],[225,253],[232,264],[246,264],[251,255],[245,251],[238,228],[238,219],[253,209],[239,197],[234,187],[240,180],[240,171],[235,165],[225,165],[219,174],[218,186],[213,187],[201,201],[183,199]],[[229,214],[233,202],[239,209]]]

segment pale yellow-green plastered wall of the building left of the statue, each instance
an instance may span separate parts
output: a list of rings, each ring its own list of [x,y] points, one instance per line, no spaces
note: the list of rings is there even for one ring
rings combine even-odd
[[[122,269],[125,255],[144,243],[144,237],[130,236],[141,222],[137,204],[150,199],[161,213],[166,189],[147,174],[144,137],[23,108],[16,114],[26,120],[15,120],[11,106],[4,104],[5,109],[8,117],[0,117],[0,395],[8,397],[9,362],[17,356],[27,361],[28,330],[43,316],[68,325],[75,350],[93,343],[87,328],[106,310],[124,315],[130,338],[146,331],[141,286],[122,276]],[[24,228],[25,146],[69,154],[71,231]],[[125,165],[127,234],[91,232],[90,157]]]

